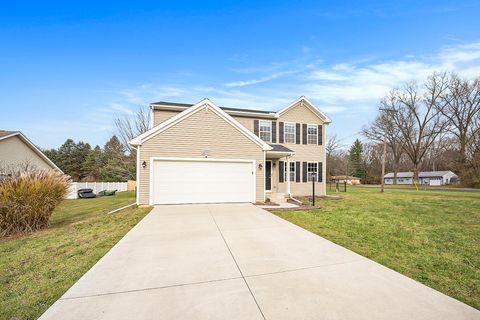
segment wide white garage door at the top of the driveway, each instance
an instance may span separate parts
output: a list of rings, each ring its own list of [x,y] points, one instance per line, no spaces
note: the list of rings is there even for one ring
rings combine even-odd
[[[155,160],[153,204],[254,202],[252,161]]]

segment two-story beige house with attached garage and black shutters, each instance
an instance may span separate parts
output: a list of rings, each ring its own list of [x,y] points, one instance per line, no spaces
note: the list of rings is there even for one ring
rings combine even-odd
[[[305,97],[273,111],[197,104],[150,105],[137,150],[137,203],[264,202],[325,194],[325,125]]]

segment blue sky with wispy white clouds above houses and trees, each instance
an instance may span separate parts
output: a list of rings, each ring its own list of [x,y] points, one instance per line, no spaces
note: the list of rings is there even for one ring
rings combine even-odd
[[[480,75],[478,1],[12,1],[0,129],[103,145],[149,102],[278,110],[301,95],[350,143],[389,88]]]

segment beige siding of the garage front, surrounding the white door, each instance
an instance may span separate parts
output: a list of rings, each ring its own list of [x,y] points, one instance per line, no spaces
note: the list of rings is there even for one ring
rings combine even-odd
[[[255,160],[256,200],[263,201],[264,172],[258,169],[264,160],[262,148],[214,111],[202,108],[142,144],[140,163],[146,161],[147,168],[139,168],[140,204],[149,203],[151,157],[203,158],[204,150],[209,158]]]

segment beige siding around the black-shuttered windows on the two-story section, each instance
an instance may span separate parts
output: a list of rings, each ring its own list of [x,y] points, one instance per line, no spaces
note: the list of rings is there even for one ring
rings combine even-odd
[[[323,145],[318,144],[303,144],[302,141],[302,132],[300,132],[300,144],[295,143],[284,143],[287,148],[295,151],[295,155],[290,158],[290,161],[300,161],[300,181],[303,181],[303,162],[323,162],[323,182],[319,182],[315,185],[317,194],[325,194],[325,180],[326,180],[326,157],[325,157],[325,125],[323,121],[313,113],[308,107],[302,103],[298,103],[293,108],[289,109],[287,112],[282,114],[278,120],[279,122],[296,122],[296,123],[307,123],[307,124],[319,124],[322,126],[322,136],[323,136]],[[302,126],[300,125],[300,130]],[[277,130],[278,131],[278,130]],[[285,161],[285,158],[280,159]],[[272,192],[285,192],[286,183],[278,182],[278,162],[274,170],[276,171],[272,176]],[[275,180],[274,180],[275,179]],[[275,189],[273,189],[273,185]],[[312,191],[311,182],[290,182],[290,190],[293,196],[305,196],[310,195]]]

